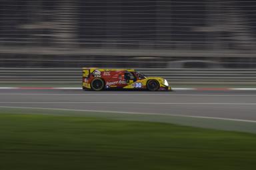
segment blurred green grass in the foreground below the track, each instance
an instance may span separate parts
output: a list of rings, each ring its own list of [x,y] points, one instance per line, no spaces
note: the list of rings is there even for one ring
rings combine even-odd
[[[0,169],[255,169],[256,135],[105,118],[0,114]]]

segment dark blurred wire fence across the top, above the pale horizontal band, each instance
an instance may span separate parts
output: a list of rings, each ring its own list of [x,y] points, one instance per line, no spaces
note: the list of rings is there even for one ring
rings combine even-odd
[[[0,4],[0,46],[10,52],[16,46],[181,52],[255,49],[253,0],[5,0]]]

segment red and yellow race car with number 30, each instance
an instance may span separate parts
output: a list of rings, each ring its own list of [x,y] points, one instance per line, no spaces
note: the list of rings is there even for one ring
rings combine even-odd
[[[170,91],[167,80],[147,77],[134,69],[83,68],[83,90],[136,89]]]

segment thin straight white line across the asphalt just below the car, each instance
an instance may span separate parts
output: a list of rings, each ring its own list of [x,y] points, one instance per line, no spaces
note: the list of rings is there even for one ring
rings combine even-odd
[[[256,105],[256,103],[155,103],[155,102],[0,102],[0,104],[180,104],[180,105]]]

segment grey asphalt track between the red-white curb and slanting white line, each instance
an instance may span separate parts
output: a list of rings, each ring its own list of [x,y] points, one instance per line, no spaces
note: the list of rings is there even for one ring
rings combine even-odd
[[[0,106],[203,116],[256,121],[256,91],[1,89]]]

